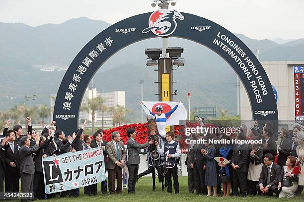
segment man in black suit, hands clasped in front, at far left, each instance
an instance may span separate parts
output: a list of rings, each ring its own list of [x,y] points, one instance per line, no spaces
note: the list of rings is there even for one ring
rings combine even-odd
[[[8,148],[4,152],[5,172],[5,192],[18,192],[20,179],[20,142],[16,142],[14,131],[6,132]]]

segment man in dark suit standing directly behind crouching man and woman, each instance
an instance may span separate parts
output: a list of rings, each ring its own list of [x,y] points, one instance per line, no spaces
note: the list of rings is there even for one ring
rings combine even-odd
[[[288,139],[289,136],[289,131],[285,128],[282,128],[280,137],[281,137],[281,142],[280,142],[280,147],[278,147],[279,155],[278,155],[278,165],[285,166],[287,156],[290,155],[291,152],[291,142]]]

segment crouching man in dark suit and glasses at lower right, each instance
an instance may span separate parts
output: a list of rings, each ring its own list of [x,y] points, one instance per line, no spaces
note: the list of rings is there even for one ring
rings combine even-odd
[[[273,193],[276,193],[276,196],[279,196],[280,190],[278,190],[278,182],[281,167],[273,161],[273,155],[271,153],[266,153],[264,156],[265,165],[262,168],[260,181],[256,185],[259,195],[264,194],[272,196]]]

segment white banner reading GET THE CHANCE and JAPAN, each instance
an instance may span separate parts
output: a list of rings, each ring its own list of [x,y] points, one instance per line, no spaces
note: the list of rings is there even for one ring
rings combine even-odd
[[[46,194],[85,187],[106,180],[101,148],[42,158]]]

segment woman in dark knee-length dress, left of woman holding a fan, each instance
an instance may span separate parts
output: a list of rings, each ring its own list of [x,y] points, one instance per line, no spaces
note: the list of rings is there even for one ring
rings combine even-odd
[[[217,186],[218,186],[218,175],[217,175],[217,165],[216,160],[216,149],[210,143],[211,138],[206,138],[206,150],[202,149],[201,152],[205,156],[206,160],[204,163],[204,170],[206,170],[205,174],[205,185],[207,186],[208,195],[211,196],[211,188],[213,187],[213,196],[217,196]]]

